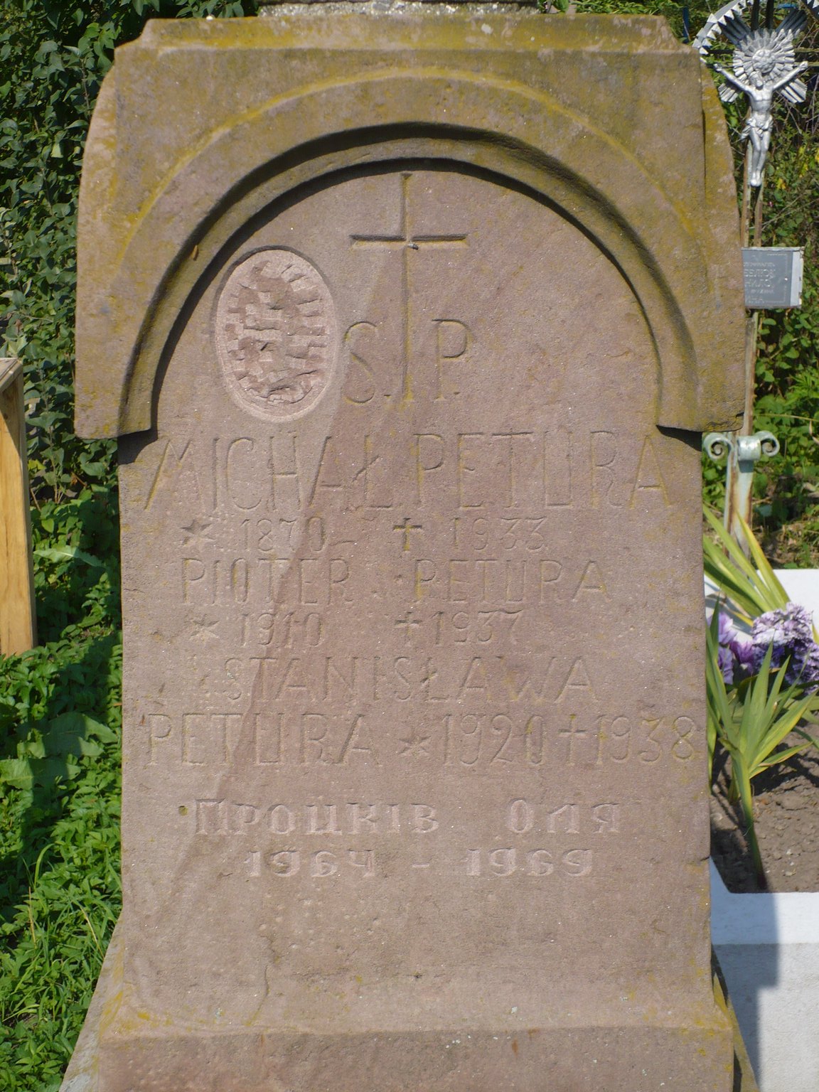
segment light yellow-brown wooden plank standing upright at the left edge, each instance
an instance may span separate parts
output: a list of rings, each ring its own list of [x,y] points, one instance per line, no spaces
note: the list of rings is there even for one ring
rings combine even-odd
[[[0,653],[37,642],[23,367],[0,358]]]

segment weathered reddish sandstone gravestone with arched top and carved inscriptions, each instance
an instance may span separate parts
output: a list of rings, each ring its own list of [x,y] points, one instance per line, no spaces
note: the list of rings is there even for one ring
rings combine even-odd
[[[743,285],[696,54],[497,5],[152,22],[83,187],[100,1092],[728,1092],[699,434]]]

